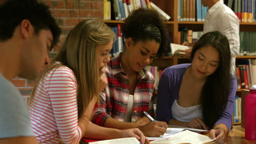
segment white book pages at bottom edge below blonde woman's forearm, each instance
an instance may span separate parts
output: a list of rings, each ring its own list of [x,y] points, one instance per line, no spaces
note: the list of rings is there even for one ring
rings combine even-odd
[[[120,143],[122,143],[122,144],[139,144],[141,142],[139,142],[135,137],[89,142],[89,144],[120,144]]]

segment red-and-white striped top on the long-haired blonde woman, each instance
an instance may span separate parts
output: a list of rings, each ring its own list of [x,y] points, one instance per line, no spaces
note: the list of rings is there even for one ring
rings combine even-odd
[[[67,67],[51,70],[39,82],[30,107],[33,132],[40,143],[78,143],[77,81]]]

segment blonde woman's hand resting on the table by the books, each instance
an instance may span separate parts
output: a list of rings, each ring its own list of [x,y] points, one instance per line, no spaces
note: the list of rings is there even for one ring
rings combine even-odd
[[[136,137],[142,144],[149,143],[147,137],[138,128],[121,130],[121,137]]]

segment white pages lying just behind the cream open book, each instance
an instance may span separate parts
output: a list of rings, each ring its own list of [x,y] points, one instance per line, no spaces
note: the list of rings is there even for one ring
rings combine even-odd
[[[161,135],[160,137],[147,137],[148,140],[159,140],[159,139],[168,139],[168,137],[177,134],[181,131],[184,130],[190,130],[193,131],[195,133],[203,133],[203,132],[207,132],[209,130],[203,130],[203,129],[193,129],[193,128],[187,128],[187,127],[183,127],[183,128],[167,128],[166,132],[164,135]]]

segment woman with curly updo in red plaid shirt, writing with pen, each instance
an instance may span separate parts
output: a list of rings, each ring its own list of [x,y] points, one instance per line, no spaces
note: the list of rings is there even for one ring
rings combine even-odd
[[[165,122],[150,122],[143,111],[154,115],[155,80],[144,69],[166,51],[166,30],[157,12],[137,9],[121,27],[125,50],[107,64],[108,85],[95,105],[92,122],[108,128],[139,128],[146,136],[165,133]]]

